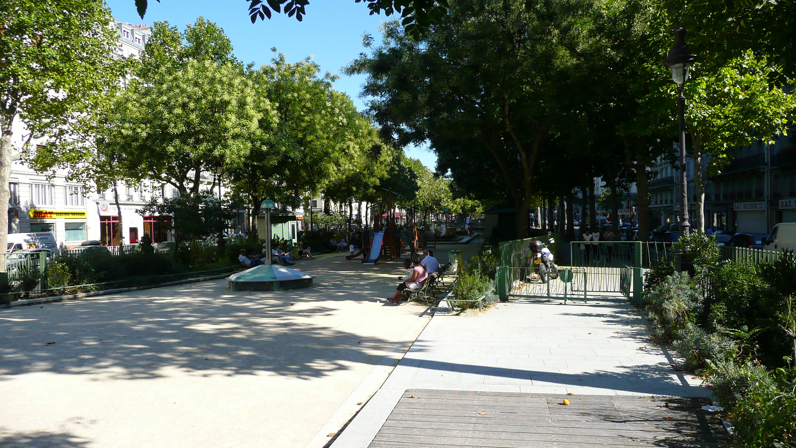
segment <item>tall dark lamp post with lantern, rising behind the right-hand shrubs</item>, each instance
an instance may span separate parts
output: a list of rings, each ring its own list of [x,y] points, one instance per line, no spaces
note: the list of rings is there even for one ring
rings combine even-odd
[[[674,45],[669,50],[669,57],[663,63],[672,69],[672,80],[677,84],[677,108],[680,119],[680,234],[689,234],[689,179],[685,169],[685,96],[683,88],[689,79],[689,68],[696,61],[696,55],[691,53],[689,45],[685,43],[685,29],[678,28],[673,31]],[[696,167],[695,167],[696,169]]]

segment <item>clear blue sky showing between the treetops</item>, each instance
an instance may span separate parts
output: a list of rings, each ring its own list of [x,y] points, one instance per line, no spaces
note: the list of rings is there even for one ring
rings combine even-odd
[[[364,51],[362,35],[371,33],[378,39],[378,27],[388,19],[369,15],[365,3],[354,0],[312,0],[306,6],[303,22],[273,14],[271,20],[258,20],[255,24],[248,18],[245,0],[149,0],[143,20],[135,12],[135,0],[108,0],[107,5],[115,18],[133,24],[167,21],[185,29],[186,24],[202,16],[224,28],[236,57],[244,63],[267,64],[274,54],[271,47],[285,53],[288,61],[312,56],[323,71],[341,75],[335,88],[348,93],[360,110],[365,108],[359,97],[365,77],[346,77],[340,70]],[[407,148],[406,154],[432,170],[435,167],[436,156],[431,151]]]

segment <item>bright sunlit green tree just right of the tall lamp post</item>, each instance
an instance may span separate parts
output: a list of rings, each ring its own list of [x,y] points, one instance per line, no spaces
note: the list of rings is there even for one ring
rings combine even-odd
[[[696,79],[685,84],[684,94],[685,121],[693,142],[696,230],[704,231],[704,154],[709,153],[707,174],[712,175],[729,162],[736,147],[755,140],[775,143],[775,136],[786,135],[794,120],[796,97],[773,82],[781,69],[751,51],[715,73],[699,69],[697,65]]]

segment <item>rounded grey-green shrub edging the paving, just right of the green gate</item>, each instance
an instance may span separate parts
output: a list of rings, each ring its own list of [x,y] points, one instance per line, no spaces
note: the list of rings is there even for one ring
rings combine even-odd
[[[685,324],[693,322],[700,309],[702,295],[688,273],[674,273],[647,293],[644,305],[658,336],[670,339]]]

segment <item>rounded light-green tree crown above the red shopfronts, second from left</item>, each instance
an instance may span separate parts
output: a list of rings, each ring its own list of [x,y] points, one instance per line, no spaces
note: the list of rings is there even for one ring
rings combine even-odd
[[[202,172],[230,172],[248,163],[277,118],[240,66],[190,60],[184,69],[158,70],[132,80],[124,92],[129,118],[119,139],[127,170],[197,195]]]

